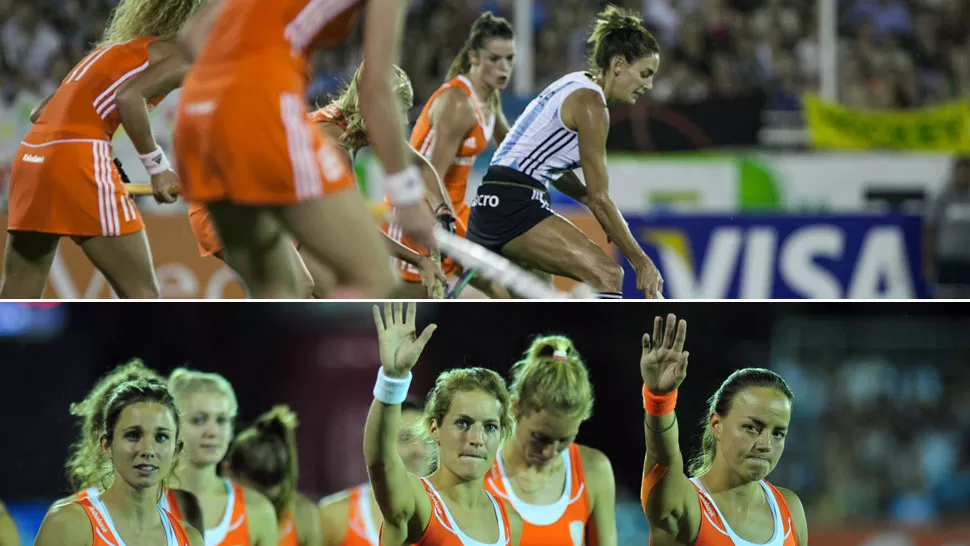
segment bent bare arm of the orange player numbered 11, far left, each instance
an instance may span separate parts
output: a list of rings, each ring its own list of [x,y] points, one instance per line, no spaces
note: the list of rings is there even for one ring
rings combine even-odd
[[[115,105],[128,138],[141,155],[158,150],[148,118],[148,100],[178,89],[190,64],[185,53],[172,42],[155,42],[148,46],[151,65],[121,84]]]

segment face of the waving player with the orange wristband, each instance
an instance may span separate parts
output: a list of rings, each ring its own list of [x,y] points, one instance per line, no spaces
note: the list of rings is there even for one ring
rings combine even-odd
[[[771,387],[748,387],[734,396],[726,417],[711,420],[718,451],[748,481],[774,470],[785,450],[791,401]]]

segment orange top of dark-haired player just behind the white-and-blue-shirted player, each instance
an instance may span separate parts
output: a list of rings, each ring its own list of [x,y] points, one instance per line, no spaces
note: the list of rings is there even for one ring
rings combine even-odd
[[[488,143],[492,141],[492,134],[495,129],[495,113],[492,113],[486,119],[484,106],[480,104],[472,87],[472,82],[468,78],[456,76],[431,95],[424,108],[421,109],[421,115],[418,116],[414,130],[411,131],[411,146],[424,157],[431,159],[431,151],[435,143],[435,132],[429,118],[431,105],[442,93],[452,88],[461,89],[462,93],[471,97],[472,104],[475,105],[475,119],[477,120],[475,127],[462,137],[461,147],[458,148],[458,153],[451,166],[445,173],[438,173],[448,191],[448,198],[451,199],[453,204],[458,204],[465,201],[468,175],[471,174],[472,167],[475,165],[475,158],[488,148]]]

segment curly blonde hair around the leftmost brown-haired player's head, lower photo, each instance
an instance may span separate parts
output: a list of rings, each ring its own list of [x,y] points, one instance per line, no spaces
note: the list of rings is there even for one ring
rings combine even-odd
[[[104,409],[112,391],[128,381],[138,379],[165,381],[158,372],[145,366],[141,359],[134,358],[102,376],[83,400],[71,404],[71,415],[78,418],[81,426],[64,465],[72,490],[87,489],[99,481],[104,482],[105,476],[112,476],[111,461],[101,454],[101,436],[105,433]]]

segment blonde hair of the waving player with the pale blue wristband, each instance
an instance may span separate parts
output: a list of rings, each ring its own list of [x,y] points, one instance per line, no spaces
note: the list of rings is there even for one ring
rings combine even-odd
[[[424,417],[421,419],[423,435],[430,436],[432,423],[442,426],[456,394],[474,391],[482,391],[498,400],[501,406],[499,425],[502,429],[502,440],[507,440],[512,435],[509,391],[505,388],[505,380],[501,375],[485,368],[458,368],[438,376],[424,404]],[[434,455],[437,460],[437,453]]]

